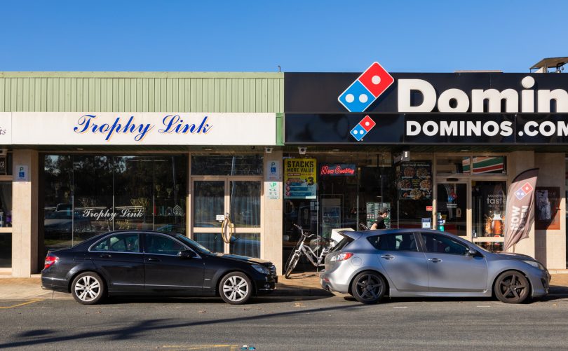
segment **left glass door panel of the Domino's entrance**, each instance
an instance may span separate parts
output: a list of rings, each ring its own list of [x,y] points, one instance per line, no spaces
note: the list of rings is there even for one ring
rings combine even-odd
[[[445,220],[444,230],[454,235],[466,236],[468,184],[438,183],[436,187],[436,212]]]

